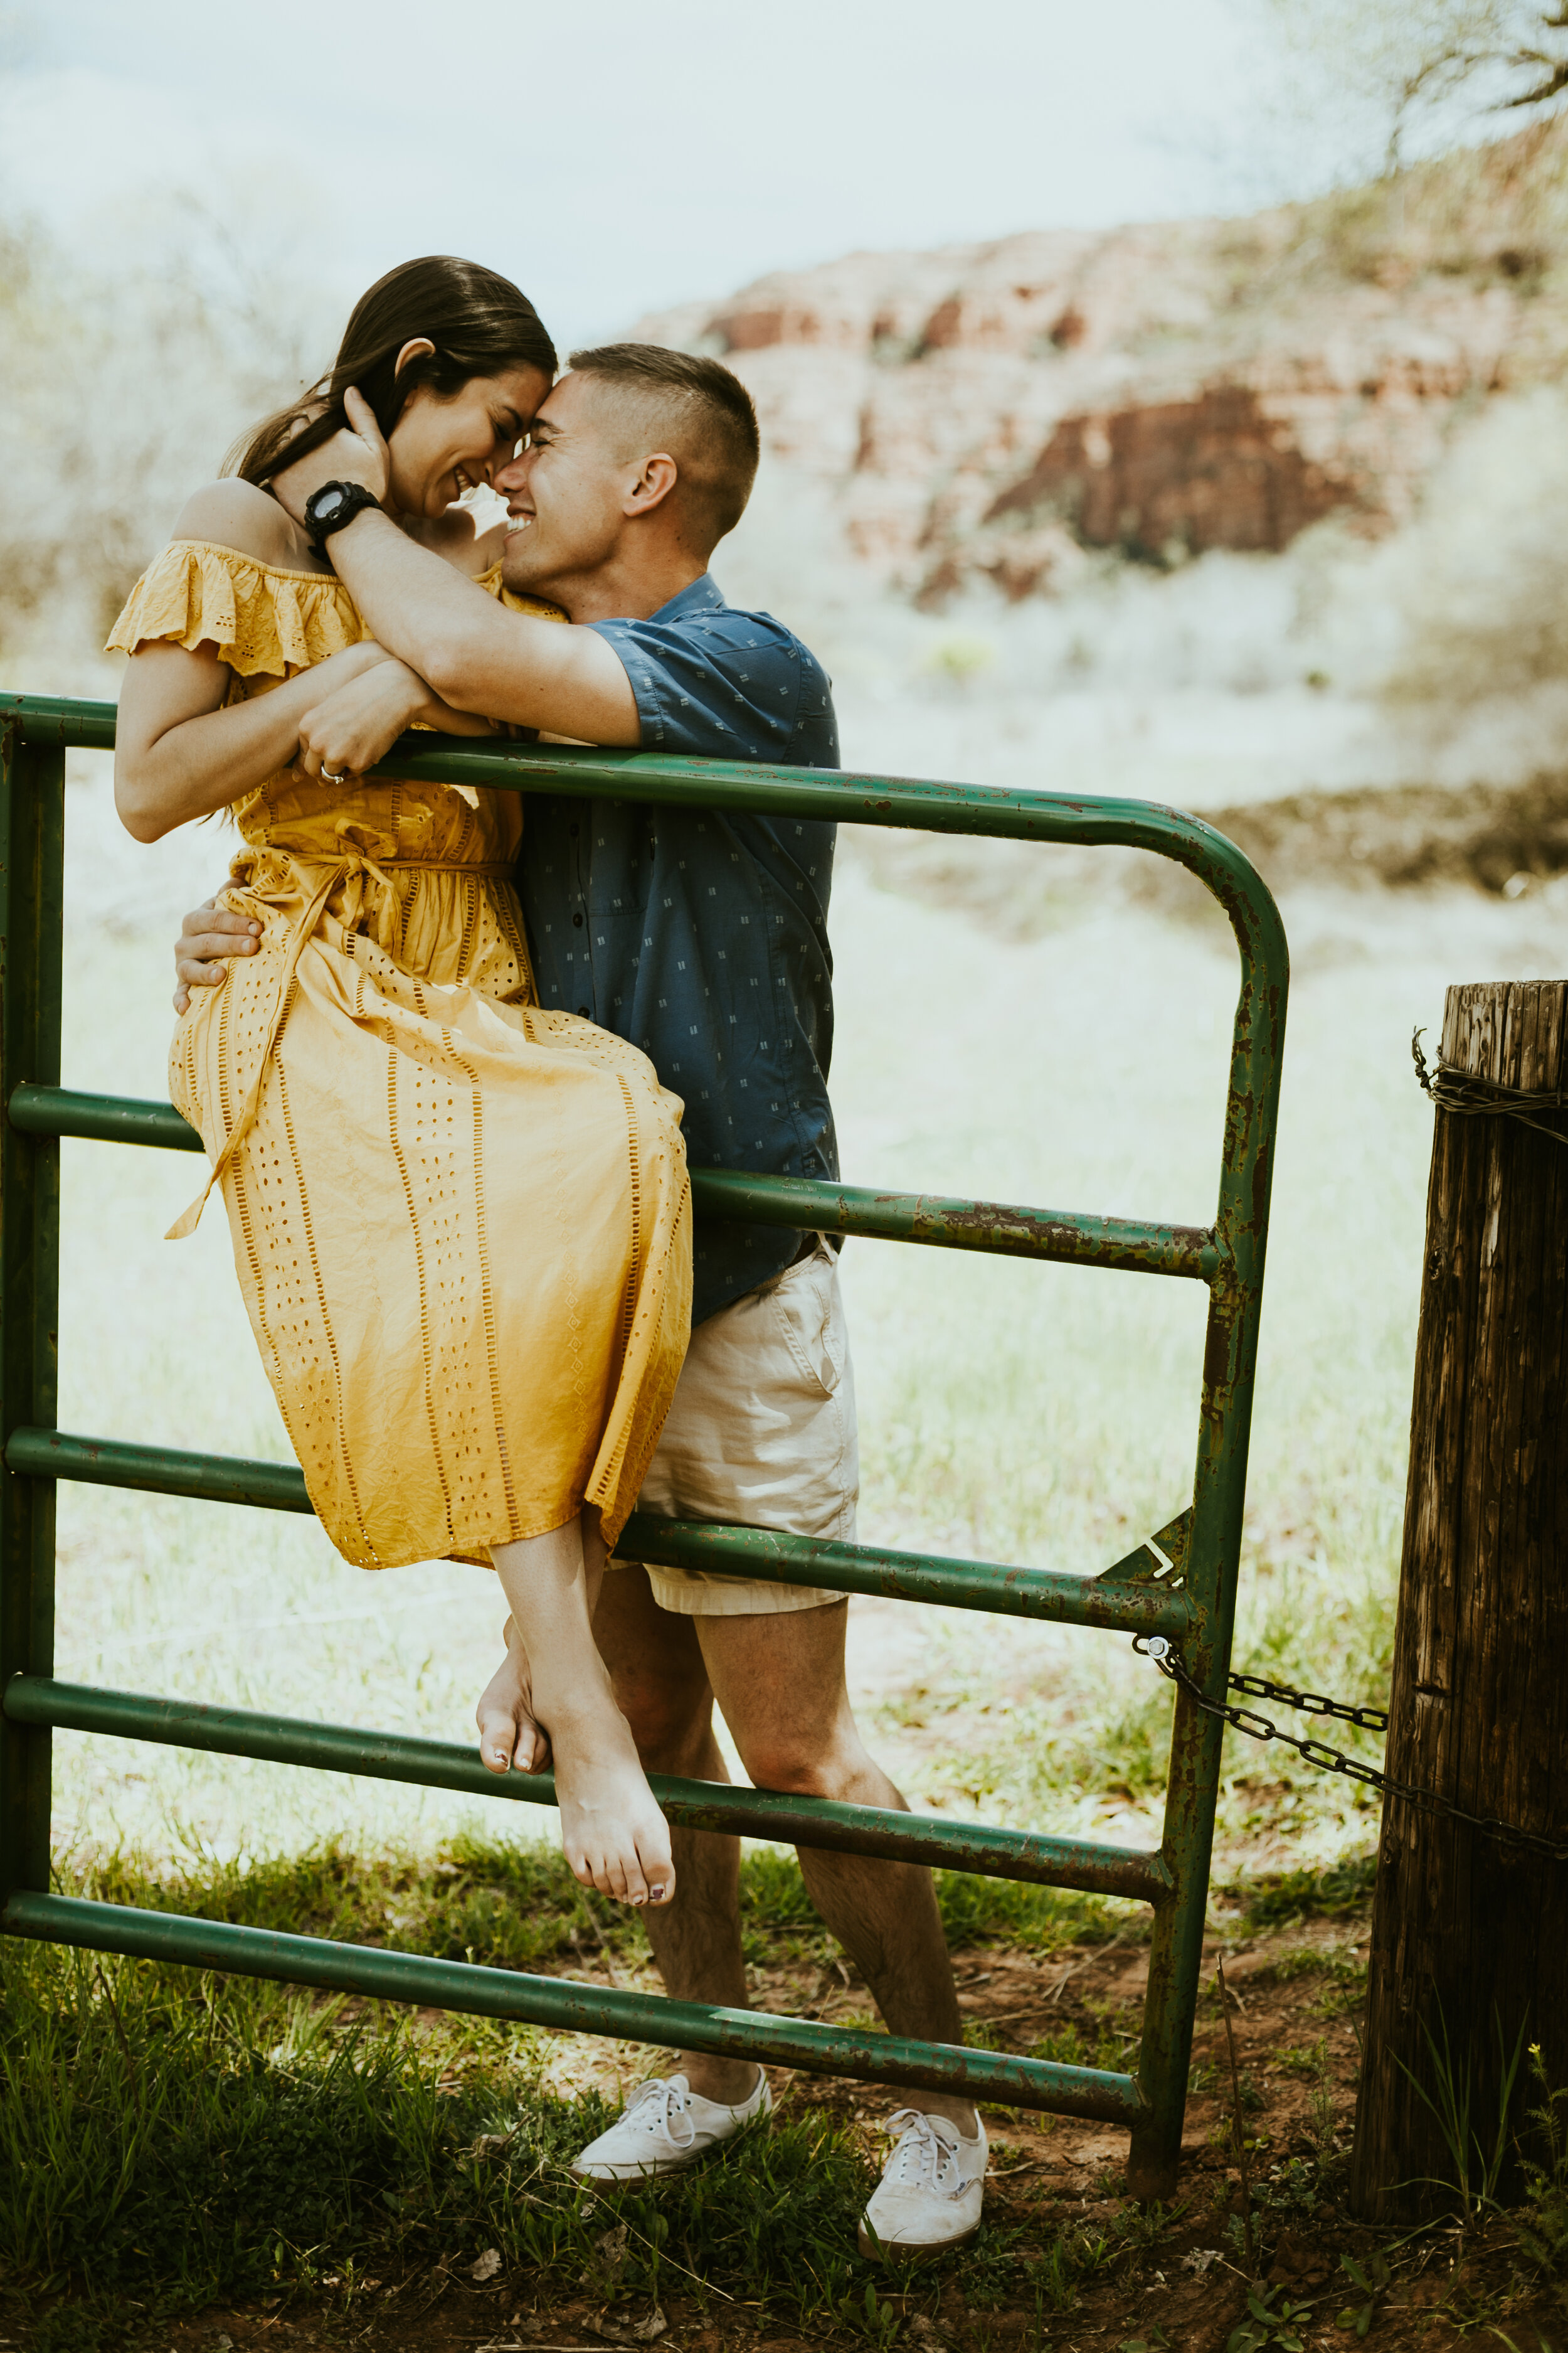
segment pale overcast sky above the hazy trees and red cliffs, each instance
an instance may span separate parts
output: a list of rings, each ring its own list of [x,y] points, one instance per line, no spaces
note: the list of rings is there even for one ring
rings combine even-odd
[[[856,247],[1234,198],[1227,0],[49,0],[9,14],[0,200],[113,245],[188,186],[343,296],[416,252],[562,344]]]

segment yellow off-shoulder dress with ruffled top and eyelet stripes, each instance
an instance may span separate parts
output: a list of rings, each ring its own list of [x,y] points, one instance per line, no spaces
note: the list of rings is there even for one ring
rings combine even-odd
[[[214,642],[237,701],[362,635],[334,579],[176,541],[108,642]],[[585,1501],[614,1541],[691,1327],[679,1099],[534,1002],[515,793],[282,772],[235,819],[223,906],[259,953],[193,991],[169,1092],[322,1525],[367,1569],[487,1560]]]

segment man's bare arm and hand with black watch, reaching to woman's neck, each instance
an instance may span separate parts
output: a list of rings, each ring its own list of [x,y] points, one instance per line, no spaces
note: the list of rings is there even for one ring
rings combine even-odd
[[[364,482],[386,496],[386,442],[355,395],[350,414],[362,431],[334,433],[275,478],[296,520],[322,482]],[[444,558],[414,546],[388,515],[355,515],[327,551],[371,635],[442,701],[581,744],[642,741],[632,682],[597,631],[508,612]]]

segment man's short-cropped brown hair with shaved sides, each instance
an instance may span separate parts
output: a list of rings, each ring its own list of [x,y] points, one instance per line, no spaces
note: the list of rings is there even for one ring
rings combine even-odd
[[[733,369],[663,344],[602,344],[574,351],[571,372],[616,388],[628,456],[670,452],[689,513],[712,532],[710,548],[733,532],[762,454],[757,409]]]

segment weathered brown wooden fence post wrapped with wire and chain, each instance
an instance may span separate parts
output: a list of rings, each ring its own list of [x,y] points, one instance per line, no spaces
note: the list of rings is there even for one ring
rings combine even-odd
[[[1568,981],[1450,988],[1443,1064],[1568,1085]],[[1568,1842],[1568,1141],[1519,1118],[1436,1111],[1389,1711],[1394,1779]],[[1420,2186],[1455,2177],[1427,2033],[1490,2146],[1521,2026],[1568,2082],[1568,1864],[1385,1800],[1359,2214],[1446,2202]]]

